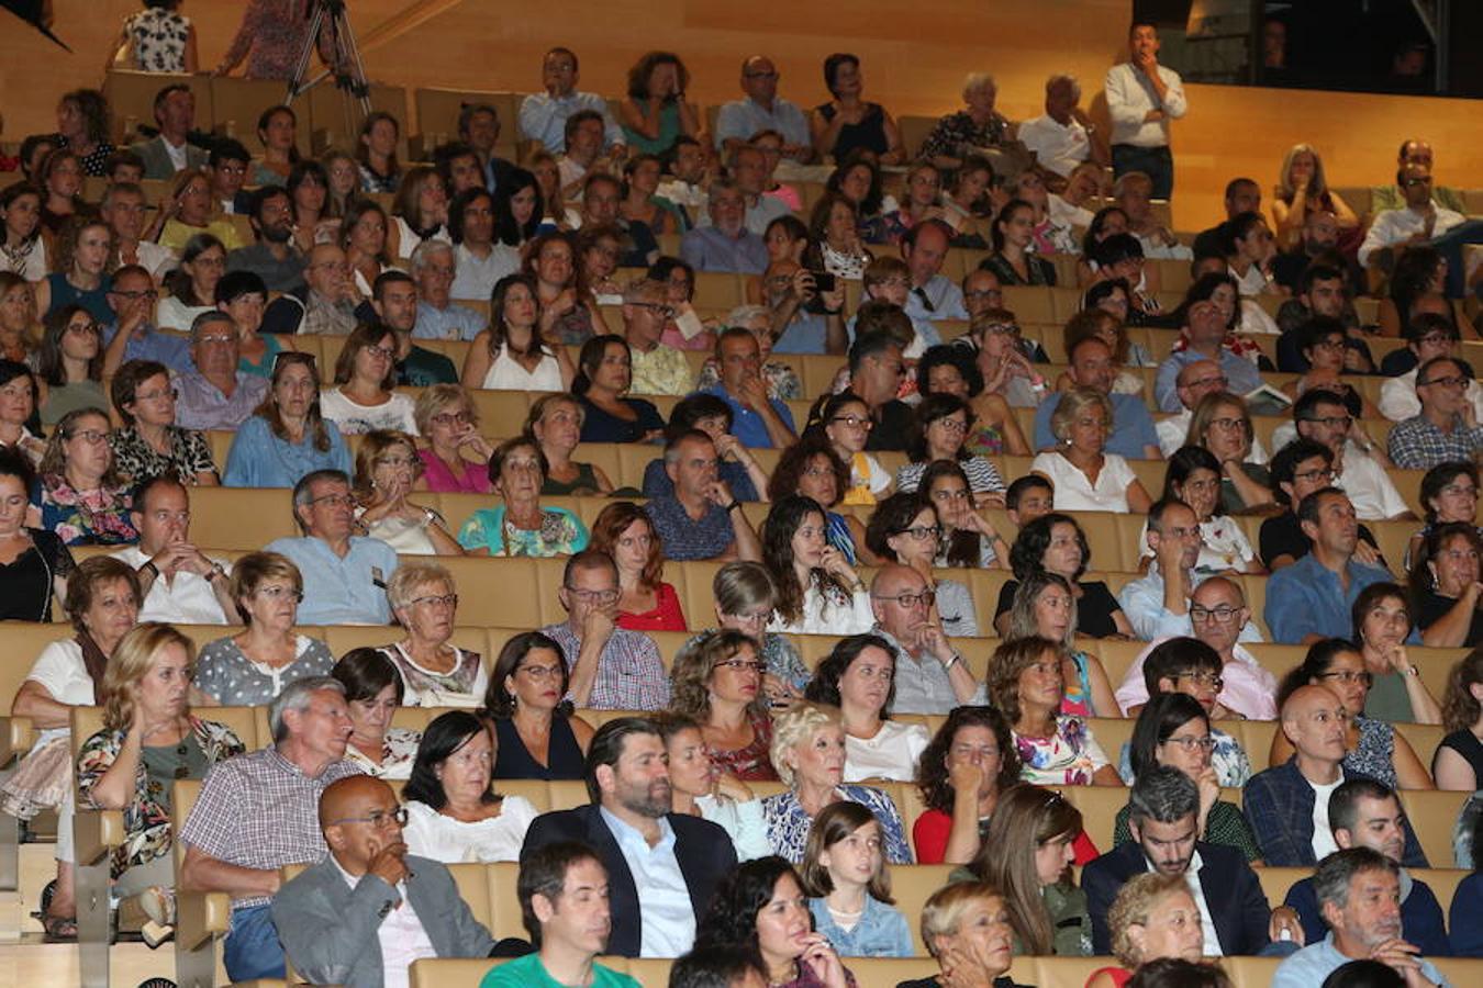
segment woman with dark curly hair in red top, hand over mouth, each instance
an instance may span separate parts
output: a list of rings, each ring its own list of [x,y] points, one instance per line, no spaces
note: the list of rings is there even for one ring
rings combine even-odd
[[[992,707],[955,707],[916,760],[927,810],[912,825],[919,865],[965,865],[979,853],[1000,795],[1019,781],[1019,754]]]

